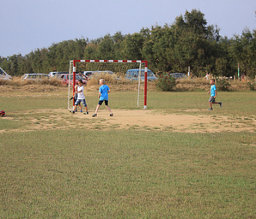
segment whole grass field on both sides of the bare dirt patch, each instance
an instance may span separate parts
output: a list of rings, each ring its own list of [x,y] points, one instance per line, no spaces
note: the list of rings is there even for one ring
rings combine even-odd
[[[86,93],[90,112],[96,95]],[[84,128],[64,113],[66,96],[0,97],[0,218],[256,217],[255,92],[219,92],[224,106],[211,112],[205,92],[149,92],[147,110],[252,127],[222,133],[101,130],[101,118]],[[113,92],[110,103],[113,112],[137,109],[129,92]]]

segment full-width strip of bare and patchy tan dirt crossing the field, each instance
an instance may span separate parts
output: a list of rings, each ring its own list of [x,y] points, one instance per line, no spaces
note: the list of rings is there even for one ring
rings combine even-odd
[[[221,133],[221,132],[255,132],[255,119],[244,120],[216,115],[188,115],[166,114],[161,111],[149,109],[123,110],[114,109],[113,117],[109,116],[107,109],[99,110],[96,117],[93,111],[88,115],[80,112],[72,114],[68,109],[40,109],[31,112],[22,112],[21,115],[7,115],[2,120],[12,120],[24,123],[24,126],[4,132],[24,132],[34,130],[52,130],[67,128],[83,128],[85,130],[111,131],[123,130],[159,130],[164,132],[182,133]]]

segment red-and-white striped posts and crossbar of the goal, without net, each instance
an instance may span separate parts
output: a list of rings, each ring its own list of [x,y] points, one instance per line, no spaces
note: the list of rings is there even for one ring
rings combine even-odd
[[[136,63],[144,63],[144,79],[148,78],[148,61],[146,60],[70,60],[70,66],[73,64],[73,85],[76,84],[76,62],[113,62],[113,63],[129,63],[129,62],[136,62]],[[69,71],[71,75],[71,71]],[[140,86],[140,73],[138,78],[138,86]],[[143,109],[147,109],[147,80],[144,80],[144,107]],[[73,93],[75,92],[75,86],[73,86]],[[72,95],[73,97],[73,95]],[[138,89],[138,97],[139,97],[139,89]],[[138,100],[137,100],[138,101]],[[74,107],[73,102],[73,107]],[[68,109],[70,109],[70,83],[69,83],[69,95],[68,95]]]

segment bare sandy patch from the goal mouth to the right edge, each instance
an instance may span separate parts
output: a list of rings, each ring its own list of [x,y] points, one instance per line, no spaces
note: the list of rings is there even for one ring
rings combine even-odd
[[[101,125],[120,129],[162,130],[185,133],[216,133],[216,132],[253,132],[252,124],[243,120],[234,121],[227,116],[212,115],[175,115],[164,114],[155,110],[113,110],[113,117],[107,109],[99,111],[96,117],[76,113],[79,119],[86,117],[89,121],[101,122]],[[252,121],[254,126],[255,120]]]

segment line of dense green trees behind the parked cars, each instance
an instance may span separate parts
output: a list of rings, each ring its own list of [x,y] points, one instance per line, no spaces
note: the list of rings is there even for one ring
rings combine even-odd
[[[238,68],[254,78],[256,74],[256,30],[245,29],[233,38],[220,36],[219,28],[207,25],[197,9],[176,17],[173,24],[142,28],[139,33],[88,40],[76,38],[52,44],[49,48],[0,56],[0,67],[8,74],[68,71],[73,59],[148,60],[155,73],[180,72],[204,76],[238,76]]]

